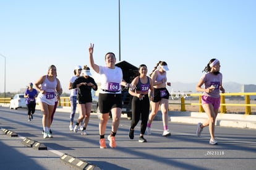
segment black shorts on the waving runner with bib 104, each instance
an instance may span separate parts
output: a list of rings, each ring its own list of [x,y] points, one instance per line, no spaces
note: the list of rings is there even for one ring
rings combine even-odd
[[[100,113],[109,113],[112,108],[122,108],[122,94],[99,93]]]

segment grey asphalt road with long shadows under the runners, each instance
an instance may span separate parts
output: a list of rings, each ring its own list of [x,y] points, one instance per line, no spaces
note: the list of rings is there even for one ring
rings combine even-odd
[[[75,116],[75,120],[79,115]],[[0,169],[74,169],[61,161],[64,153],[95,164],[100,169],[255,169],[256,130],[216,127],[218,145],[210,145],[208,128],[195,136],[196,125],[169,122],[170,137],[162,137],[163,124],[153,121],[147,143],[139,143],[140,122],[130,140],[130,121],[121,119],[116,135],[117,148],[99,147],[98,122],[92,115],[89,135],[69,131],[69,113],[58,112],[51,129],[53,138],[43,139],[41,112],[27,121],[25,109],[0,108],[0,127],[16,132],[18,137],[0,133]],[[109,119],[106,137],[111,131]],[[48,150],[23,145],[23,138],[43,143]]]

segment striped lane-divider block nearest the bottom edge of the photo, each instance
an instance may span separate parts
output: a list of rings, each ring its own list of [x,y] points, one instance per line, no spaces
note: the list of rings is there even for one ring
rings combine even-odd
[[[61,161],[64,161],[64,163],[68,163],[71,166],[73,166],[76,169],[87,169],[87,170],[100,170],[98,166],[88,163],[87,161],[83,161],[77,158],[74,158],[74,156],[64,154],[61,156]]]

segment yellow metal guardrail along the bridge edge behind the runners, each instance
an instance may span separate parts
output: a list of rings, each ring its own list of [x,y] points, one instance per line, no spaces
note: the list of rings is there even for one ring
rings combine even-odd
[[[197,97],[198,96],[198,103],[186,103],[186,98],[189,96]],[[181,111],[186,111],[186,105],[197,105],[199,106],[198,111],[200,113],[203,112],[202,107],[202,100],[201,100],[202,93],[191,93],[191,94],[171,94],[170,98],[180,98],[181,103],[169,103],[169,104],[178,104],[181,106]],[[221,104],[220,104],[220,111],[221,113],[227,113],[226,106],[244,106],[245,114],[251,114],[252,110],[251,107],[256,107],[256,104],[250,104],[250,96],[256,96],[256,93],[221,93]],[[241,103],[226,103],[225,96],[244,96],[244,104]],[[9,104],[11,98],[0,98],[0,103],[7,103]],[[70,106],[70,98],[69,97],[61,97],[58,106]]]

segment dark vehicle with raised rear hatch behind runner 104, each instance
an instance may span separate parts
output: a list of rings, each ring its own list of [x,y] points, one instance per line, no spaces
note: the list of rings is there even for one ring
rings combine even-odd
[[[122,77],[127,83],[131,83],[134,77],[138,75],[138,67],[130,64],[127,61],[120,61],[116,63],[117,67],[122,69]],[[98,85],[100,87],[100,85]],[[100,88],[98,88],[100,89]],[[132,96],[128,92],[128,88],[122,87],[122,114],[127,114],[127,118],[132,118]],[[93,96],[92,111],[98,113],[100,117],[100,111],[98,110],[98,96]],[[111,112],[109,117],[112,117]]]

